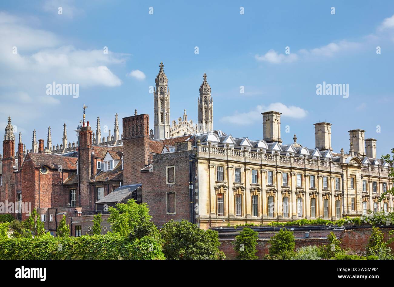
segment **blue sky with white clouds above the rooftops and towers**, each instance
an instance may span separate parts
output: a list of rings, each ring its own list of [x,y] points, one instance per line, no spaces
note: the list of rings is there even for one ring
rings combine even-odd
[[[377,139],[378,155],[394,147],[394,2],[9,1],[0,3],[0,37],[0,126],[11,116],[29,149],[32,130],[46,140],[48,126],[60,144],[63,123],[76,141],[83,104],[94,128],[100,116],[102,131],[113,130],[115,113],[134,109],[150,114],[153,128],[149,86],[161,61],[171,120],[186,109],[197,122],[205,72],[214,128],[234,137],[262,138],[260,113],[275,109],[284,143],[297,134],[313,148],[313,124],[328,121],[337,152],[349,150],[350,129]],[[142,76],[130,76],[135,70]],[[53,81],[78,83],[79,97],[46,95]],[[316,95],[323,82],[349,84],[349,97]]]

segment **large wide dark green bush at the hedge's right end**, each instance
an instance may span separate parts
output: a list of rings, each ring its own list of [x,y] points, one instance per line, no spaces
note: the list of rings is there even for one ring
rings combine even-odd
[[[219,250],[219,233],[200,229],[187,220],[171,220],[160,229],[167,259],[224,259]]]

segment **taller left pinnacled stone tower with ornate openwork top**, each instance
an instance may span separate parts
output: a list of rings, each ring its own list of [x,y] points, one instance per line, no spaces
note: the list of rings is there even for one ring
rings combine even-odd
[[[170,132],[170,90],[168,79],[164,74],[163,62],[159,65],[160,70],[156,76],[156,88],[154,95],[154,139],[168,138]]]

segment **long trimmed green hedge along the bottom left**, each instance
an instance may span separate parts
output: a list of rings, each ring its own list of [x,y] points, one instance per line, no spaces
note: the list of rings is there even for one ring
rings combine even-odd
[[[106,235],[0,240],[0,259],[165,259],[161,245],[152,237],[130,241],[108,232]]]

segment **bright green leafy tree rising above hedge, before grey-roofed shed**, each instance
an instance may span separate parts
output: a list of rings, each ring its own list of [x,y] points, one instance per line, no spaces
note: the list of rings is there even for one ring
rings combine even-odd
[[[109,211],[108,222],[112,225],[112,231],[122,236],[129,236],[138,225],[151,220],[147,204],[137,204],[134,199],[129,199],[127,203],[117,203]]]

